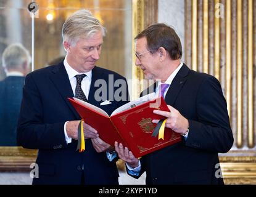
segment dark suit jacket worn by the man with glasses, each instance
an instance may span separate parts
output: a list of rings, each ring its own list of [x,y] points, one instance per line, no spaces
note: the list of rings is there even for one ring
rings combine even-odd
[[[183,65],[165,102],[188,119],[188,139],[142,157],[146,183],[223,184],[223,179],[217,179],[218,153],[229,151],[233,134],[220,82]]]

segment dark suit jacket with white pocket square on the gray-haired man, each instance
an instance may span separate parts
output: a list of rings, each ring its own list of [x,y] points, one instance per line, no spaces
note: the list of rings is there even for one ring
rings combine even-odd
[[[104,79],[107,84],[110,78],[126,79],[113,71],[93,68],[88,102],[112,113],[115,108],[126,101],[112,101],[110,105],[100,106],[94,98],[99,88],[94,86],[97,79]],[[114,85],[107,86],[113,88]],[[118,87],[114,87],[117,90]],[[128,97],[128,91],[125,92]],[[110,92],[110,95],[113,95]],[[67,98],[73,92],[63,62],[36,70],[27,75],[23,88],[23,99],[20,110],[17,141],[24,148],[39,149],[36,163],[39,165],[39,178],[34,184],[80,184],[84,171],[85,184],[118,184],[118,171],[115,161],[110,162],[105,153],[97,153],[91,140],[86,140],[86,150],[76,151],[77,140],[66,143],[64,123],[79,120],[80,116]],[[109,95],[107,95],[109,100]],[[101,124],[101,123],[99,123]],[[82,171],[82,167],[84,170]]]

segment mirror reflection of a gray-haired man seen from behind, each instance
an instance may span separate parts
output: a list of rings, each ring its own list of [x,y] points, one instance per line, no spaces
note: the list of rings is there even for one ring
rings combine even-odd
[[[0,145],[16,146],[16,127],[22,87],[29,71],[30,54],[22,44],[10,44],[2,54],[6,78],[0,81]]]

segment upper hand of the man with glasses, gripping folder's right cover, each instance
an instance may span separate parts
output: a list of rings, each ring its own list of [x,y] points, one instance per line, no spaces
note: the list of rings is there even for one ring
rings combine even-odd
[[[178,110],[167,105],[169,111],[154,110],[153,112],[157,115],[165,116],[167,121],[165,127],[168,127],[178,134],[186,134],[189,128],[188,119],[184,118]],[[153,119],[152,123],[158,123],[159,119]]]

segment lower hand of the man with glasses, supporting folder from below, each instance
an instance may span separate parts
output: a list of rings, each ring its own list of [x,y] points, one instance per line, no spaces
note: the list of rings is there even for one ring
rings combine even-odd
[[[139,159],[135,158],[133,153],[128,150],[127,147],[123,147],[122,143],[118,145],[117,142],[115,142],[115,151],[117,151],[117,154],[120,159],[123,159],[129,166],[135,168],[139,166]]]

